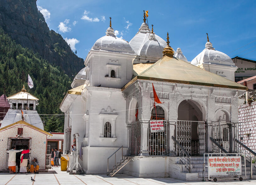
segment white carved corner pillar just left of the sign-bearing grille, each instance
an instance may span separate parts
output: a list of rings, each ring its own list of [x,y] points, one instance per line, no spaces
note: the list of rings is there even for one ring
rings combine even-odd
[[[140,123],[140,153],[139,156],[149,156],[148,152],[148,122]]]

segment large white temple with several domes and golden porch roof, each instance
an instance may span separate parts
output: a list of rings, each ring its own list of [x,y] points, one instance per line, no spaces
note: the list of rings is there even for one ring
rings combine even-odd
[[[64,153],[73,154],[73,134],[78,133],[76,148],[83,152],[79,162],[87,174],[105,174],[109,164],[110,169],[114,166],[110,175],[118,171],[136,177],[202,180],[202,172],[187,173],[196,167],[180,163],[177,143],[188,155],[202,156],[215,151],[210,137],[215,138],[216,121],[227,128],[238,122],[238,96],[247,87],[228,80],[235,67],[227,55],[207,42],[208,48],[190,64],[180,48],[174,52],[168,39],[166,45],[144,18],[139,32],[127,42],[114,35],[110,21],[106,35],[88,53],[86,67],[60,105],[65,113]],[[218,62],[210,54],[207,63],[204,53],[217,53]],[[229,73],[213,74],[212,66],[224,66]],[[152,83],[162,102],[156,109]],[[163,120],[163,132],[151,132],[149,121],[156,118]],[[123,156],[118,150],[115,163],[114,152],[120,147]],[[232,138],[223,147],[235,152]]]

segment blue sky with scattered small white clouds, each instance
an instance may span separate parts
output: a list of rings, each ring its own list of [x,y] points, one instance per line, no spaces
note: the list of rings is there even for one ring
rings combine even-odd
[[[117,36],[130,41],[143,23],[143,10],[148,10],[148,23],[154,25],[154,32],[166,40],[168,31],[172,48],[181,48],[189,61],[205,48],[206,33],[216,50],[231,58],[256,60],[254,0],[37,0],[37,7],[48,27],[67,38],[83,59],[95,41],[105,35],[109,17]]]

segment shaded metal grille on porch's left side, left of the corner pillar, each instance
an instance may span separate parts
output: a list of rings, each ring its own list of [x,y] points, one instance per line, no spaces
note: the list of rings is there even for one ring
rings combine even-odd
[[[131,155],[137,156],[140,152],[141,128],[139,122],[131,124]]]

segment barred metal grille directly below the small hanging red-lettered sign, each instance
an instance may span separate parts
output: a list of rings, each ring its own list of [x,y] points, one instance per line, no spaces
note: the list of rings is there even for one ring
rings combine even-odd
[[[148,148],[150,155],[167,155],[167,121],[164,122],[163,132],[150,132],[150,127],[148,127]]]

